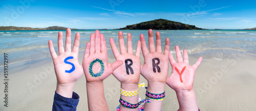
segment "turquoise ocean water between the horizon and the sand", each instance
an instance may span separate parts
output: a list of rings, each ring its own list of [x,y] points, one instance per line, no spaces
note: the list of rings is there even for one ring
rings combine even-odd
[[[52,40],[57,52],[57,36],[59,31],[0,31],[0,53],[8,53],[10,63],[22,62],[50,57],[48,40]],[[66,31],[62,31],[63,36]],[[75,33],[80,33],[80,51],[84,51],[90,34],[95,30],[72,31],[72,43]],[[113,57],[109,39],[114,38],[118,45],[119,30],[100,30],[104,34],[108,47],[108,55]],[[131,33],[134,51],[136,50],[139,35],[143,34],[147,42],[147,30],[122,30],[125,35]],[[154,31],[154,35],[155,35]],[[198,54],[205,59],[229,58],[232,51],[244,51],[248,54],[256,54],[256,31],[243,30],[160,30],[162,48],[165,38],[170,39],[170,50],[175,53],[174,46],[179,45],[181,49],[187,49],[188,53],[195,58]],[[65,38],[63,38],[65,42]],[[118,46],[117,46],[118,47]],[[83,53],[83,52],[81,52]]]

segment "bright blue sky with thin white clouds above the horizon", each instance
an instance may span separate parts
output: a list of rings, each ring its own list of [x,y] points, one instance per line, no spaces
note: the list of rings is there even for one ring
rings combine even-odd
[[[167,19],[205,29],[256,27],[256,1],[1,1],[0,26],[117,29]]]

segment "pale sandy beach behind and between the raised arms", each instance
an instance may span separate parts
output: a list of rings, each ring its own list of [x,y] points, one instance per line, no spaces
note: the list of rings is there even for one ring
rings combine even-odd
[[[203,53],[203,52],[201,52]],[[256,110],[256,56],[242,51],[233,51],[234,58],[223,60],[203,59],[197,69],[194,89],[198,106],[201,110]],[[193,65],[200,53],[189,53],[189,64]],[[204,55],[202,55],[204,57]],[[83,51],[79,52],[79,62],[82,62]],[[109,57],[109,62],[114,62]],[[141,58],[143,63],[143,57]],[[81,63],[80,63],[81,64]],[[3,70],[3,67],[0,67]],[[51,57],[24,61],[9,65],[9,99],[8,110],[51,110],[56,76]],[[169,66],[170,69],[170,66]],[[171,70],[169,70],[170,75]],[[0,79],[4,79],[1,76]],[[147,81],[141,76],[140,82]],[[1,88],[4,85],[1,84]],[[86,78],[76,82],[74,92],[79,94],[80,101],[77,110],[88,110]],[[110,110],[116,110],[119,104],[120,82],[113,76],[104,80],[105,98]],[[167,85],[163,110],[177,110],[179,105],[175,91]],[[1,92],[1,98],[4,98]],[[140,89],[139,97],[144,98],[145,89]],[[3,102],[1,102],[3,109]]]

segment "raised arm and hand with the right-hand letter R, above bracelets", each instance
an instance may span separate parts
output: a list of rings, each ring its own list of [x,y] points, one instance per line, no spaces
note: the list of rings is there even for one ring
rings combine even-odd
[[[144,65],[141,67],[141,74],[143,77],[145,77],[145,79],[147,79],[147,92],[163,96],[169,67],[169,39],[165,39],[165,48],[163,53],[160,32],[156,32],[155,48],[153,31],[148,30],[148,47],[150,52],[147,50],[146,42],[142,34],[140,35],[140,41],[142,54],[144,57]],[[151,103],[145,103],[144,110],[161,110],[161,107],[162,99],[151,99]]]

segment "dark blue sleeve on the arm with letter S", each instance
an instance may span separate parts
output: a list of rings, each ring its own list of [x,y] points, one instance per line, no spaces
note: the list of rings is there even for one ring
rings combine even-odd
[[[73,92],[72,98],[66,98],[55,91],[52,110],[76,110],[76,106],[79,102],[79,96]]]

